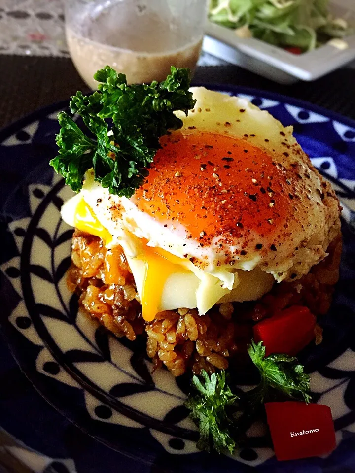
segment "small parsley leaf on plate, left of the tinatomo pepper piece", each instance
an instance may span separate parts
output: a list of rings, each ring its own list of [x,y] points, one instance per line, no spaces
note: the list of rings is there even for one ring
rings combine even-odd
[[[208,452],[213,448],[218,453],[233,453],[235,441],[228,429],[233,421],[228,417],[226,407],[238,398],[227,386],[225,372],[213,373],[210,377],[202,371],[202,379],[194,375],[192,385],[199,394],[190,397],[185,406],[192,411],[190,417],[200,430],[197,448]]]

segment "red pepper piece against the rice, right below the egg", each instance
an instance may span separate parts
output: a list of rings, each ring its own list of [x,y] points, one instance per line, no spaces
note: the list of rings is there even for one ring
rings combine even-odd
[[[254,340],[264,342],[266,356],[271,353],[295,356],[315,338],[316,321],[307,307],[293,305],[254,325]]]

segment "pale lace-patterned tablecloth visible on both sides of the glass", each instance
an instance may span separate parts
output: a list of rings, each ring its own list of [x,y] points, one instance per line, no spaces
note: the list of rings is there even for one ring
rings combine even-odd
[[[0,54],[69,57],[63,0],[0,0]],[[198,64],[227,63],[203,52]]]

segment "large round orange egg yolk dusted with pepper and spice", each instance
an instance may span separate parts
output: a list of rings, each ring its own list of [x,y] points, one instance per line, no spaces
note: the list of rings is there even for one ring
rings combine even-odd
[[[138,208],[162,224],[178,223],[186,237],[227,244],[253,230],[280,233],[292,214],[285,169],[249,141],[211,132],[174,132],[161,139],[149,176],[132,196]],[[272,151],[272,150],[270,150]]]

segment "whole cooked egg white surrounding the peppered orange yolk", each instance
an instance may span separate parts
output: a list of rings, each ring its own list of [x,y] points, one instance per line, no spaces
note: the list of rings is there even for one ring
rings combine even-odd
[[[188,127],[196,127],[199,131],[243,137],[254,146],[272,154],[284,166],[290,161],[296,161],[311,176],[308,182],[310,190],[320,187],[321,178],[317,171],[309,168],[309,160],[292,136],[291,127],[284,128],[267,111],[260,110],[245,99],[229,97],[204,88],[192,88],[192,91],[197,99],[194,110],[187,117],[182,112],[177,112],[184,123],[182,132],[188,133]],[[229,122],[228,128],[222,126],[225,122]],[[288,159],[282,153],[284,148],[280,132],[290,145]],[[245,138],[245,135],[250,134],[254,136]],[[267,143],[265,137],[268,138]],[[294,267],[297,267],[300,277],[326,256],[326,248],[339,230],[336,199],[326,207],[317,193],[310,194],[311,201],[307,203],[311,208],[308,218],[309,215],[312,218],[309,218],[309,224],[302,230],[293,229],[292,237],[283,242],[277,255],[270,252],[270,255],[261,259],[255,247],[249,247],[247,256],[241,257],[233,267],[223,263],[214,244],[201,248],[198,241],[186,239],[186,232],[181,224],[174,222],[173,228],[172,222],[167,221],[164,226],[164,222],[158,222],[139,210],[130,199],[110,195],[107,189],[94,182],[93,172],[87,173],[80,193],[63,206],[62,217],[68,224],[75,226],[77,204],[83,199],[89,205],[96,218],[113,237],[109,246],[122,246],[140,297],[144,284],[144,263],[140,258],[144,253],[142,238],[147,240],[148,246],[162,248],[178,256],[184,272],[177,271],[165,281],[159,311],[197,307],[199,313],[204,314],[218,302],[256,300],[271,289],[275,280],[288,278]],[[306,246],[301,245],[302,241],[307,241]],[[296,246],[302,246],[297,254],[294,253]],[[231,252],[236,249],[241,249],[238,243],[230,247]],[[206,264],[204,267],[193,264],[184,257],[186,253],[196,256],[200,261],[203,259]]]

